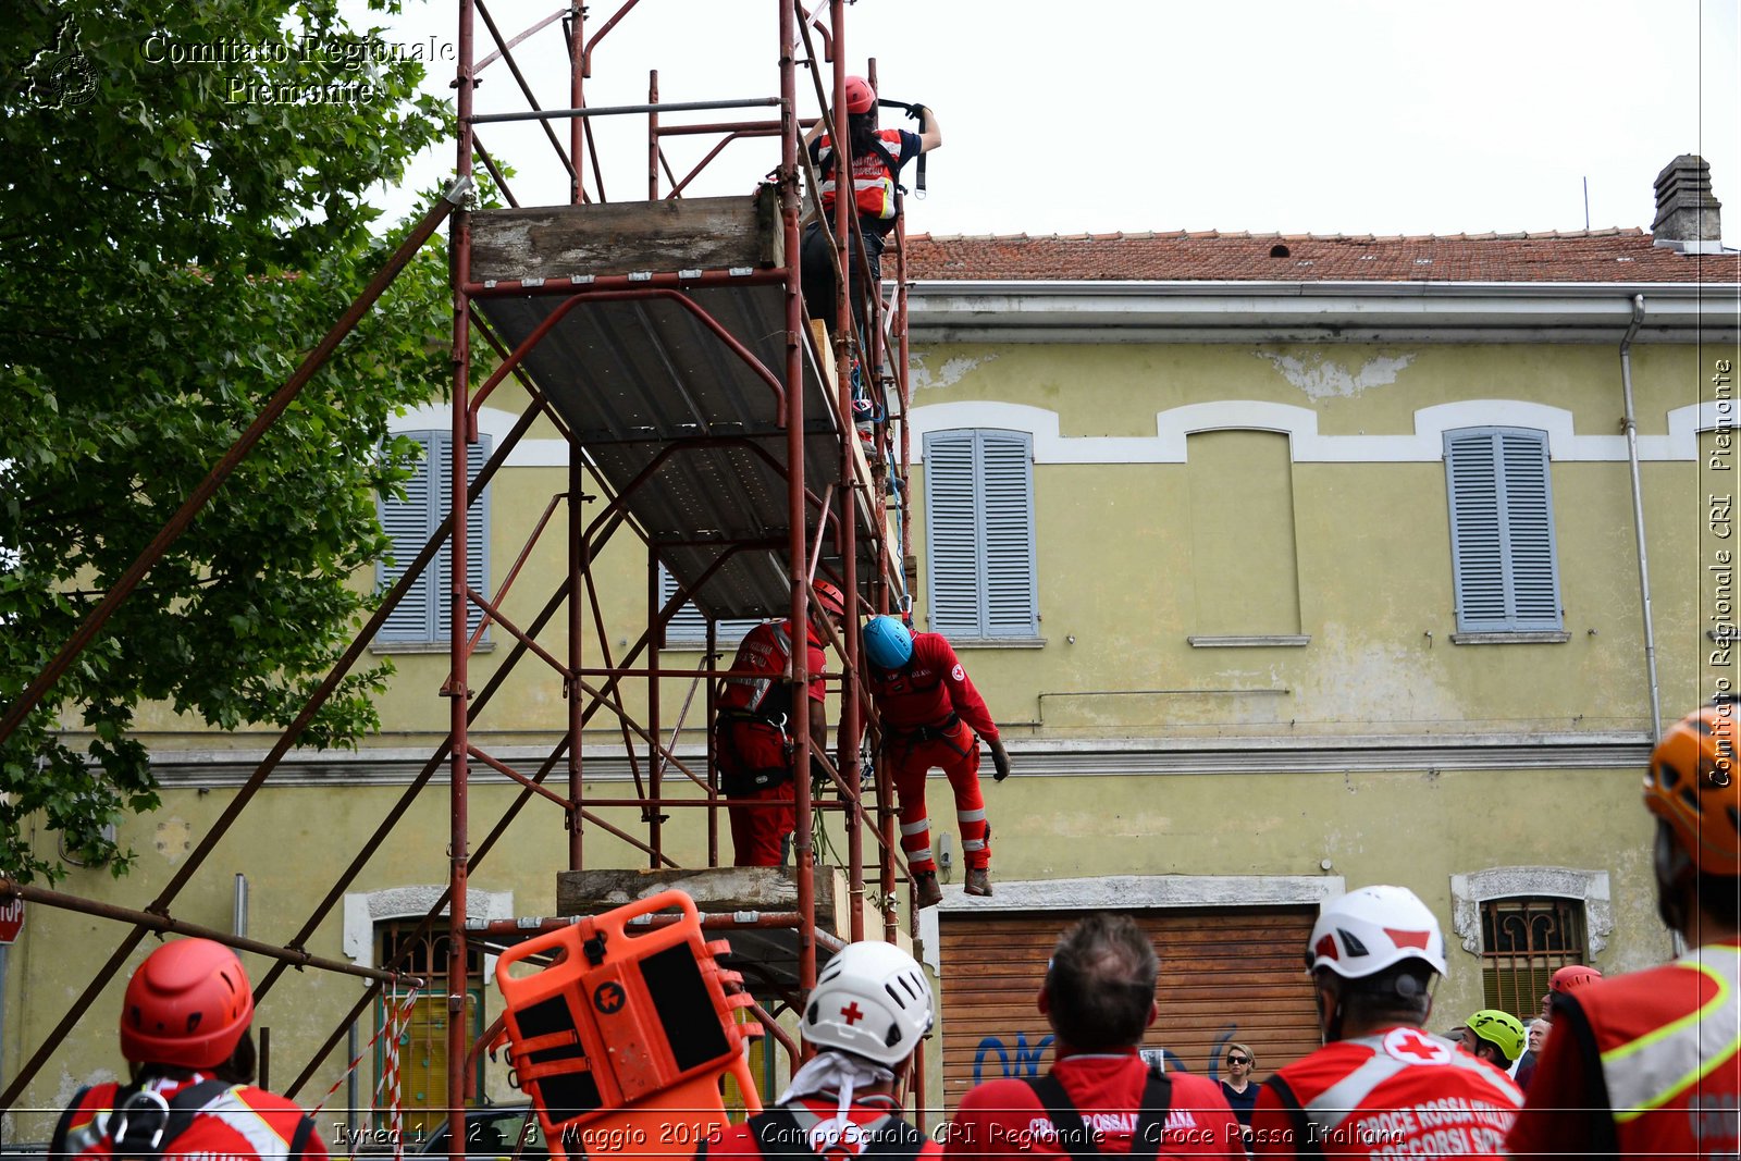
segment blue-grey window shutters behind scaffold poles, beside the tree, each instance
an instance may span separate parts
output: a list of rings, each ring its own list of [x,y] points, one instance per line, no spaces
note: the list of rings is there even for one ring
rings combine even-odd
[[[447,480],[453,473],[453,435],[449,432],[407,432],[423,447],[423,461],[413,479],[406,480],[406,498],[381,501],[381,527],[393,538],[393,564],[376,569],[381,587],[390,587],[404,576],[409,564],[428,543],[440,522],[447,519],[453,503]],[[467,444],[467,482],[475,484],[489,460],[489,437]],[[465,583],[487,597],[489,587],[489,489],[486,487],[467,508],[467,562]],[[381,641],[439,642],[447,639],[449,602],[453,588],[453,538],[447,538],[435,555],[435,564],[406,592],[404,601],[381,627]],[[484,611],[467,602],[467,632],[475,632],[484,621]]]

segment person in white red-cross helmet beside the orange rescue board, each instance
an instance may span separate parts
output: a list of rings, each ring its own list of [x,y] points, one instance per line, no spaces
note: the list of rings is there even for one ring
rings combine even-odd
[[[933,1158],[942,1147],[902,1119],[912,1053],[931,1030],[931,985],[893,943],[848,943],[817,976],[799,1018],[817,1051],[771,1109],[728,1124],[696,1158],[876,1161]]]

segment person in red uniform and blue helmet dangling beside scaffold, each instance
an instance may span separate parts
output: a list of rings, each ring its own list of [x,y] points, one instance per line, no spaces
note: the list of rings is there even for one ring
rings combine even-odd
[[[900,795],[900,849],[912,870],[918,905],[931,907],[944,898],[931,856],[931,825],[924,816],[924,776],[933,766],[947,775],[956,792],[966,893],[991,895],[991,825],[978,783],[980,738],[991,748],[996,780],[1010,776],[1010,755],[991,710],[942,634],[914,634],[893,616],[872,616],[864,644],[865,679],[883,726],[879,761]]]

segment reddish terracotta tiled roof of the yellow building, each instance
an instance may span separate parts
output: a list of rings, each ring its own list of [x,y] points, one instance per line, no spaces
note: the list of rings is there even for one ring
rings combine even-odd
[[[919,280],[1734,282],[1741,256],[1678,254],[1644,230],[1452,235],[1076,233],[907,238]]]

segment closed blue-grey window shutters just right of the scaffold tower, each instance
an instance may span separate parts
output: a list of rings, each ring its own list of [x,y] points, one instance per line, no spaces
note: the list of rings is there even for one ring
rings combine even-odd
[[[924,437],[930,627],[947,637],[1038,637],[1034,472],[1025,432]]]

